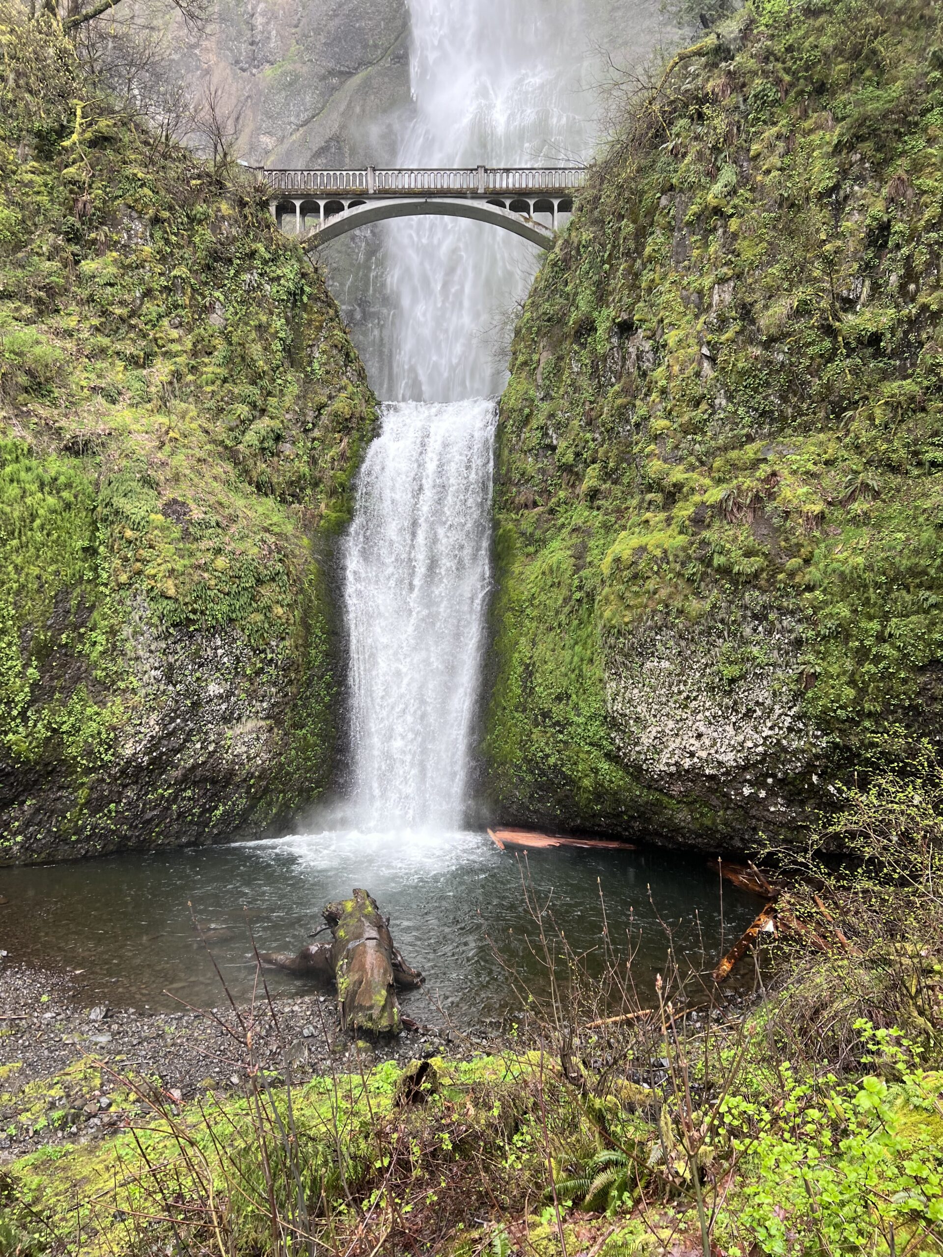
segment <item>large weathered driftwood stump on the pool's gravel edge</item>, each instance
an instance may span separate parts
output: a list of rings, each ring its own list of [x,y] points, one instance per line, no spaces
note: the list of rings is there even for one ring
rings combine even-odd
[[[265,952],[263,963],[334,982],[343,1028],[399,1035],[402,1016],[396,988],[420,985],[422,974],[411,969],[394,947],[389,919],[366,890],[328,904],[323,916],[331,943],[311,944],[297,955]]]

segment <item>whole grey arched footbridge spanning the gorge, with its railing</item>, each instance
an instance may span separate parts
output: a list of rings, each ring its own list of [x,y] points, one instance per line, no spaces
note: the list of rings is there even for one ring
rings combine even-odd
[[[551,249],[557,228],[573,211],[573,195],[586,172],[582,166],[255,167],[255,176],[269,191],[279,228],[306,245],[326,244],[367,222],[438,214],[490,222]]]

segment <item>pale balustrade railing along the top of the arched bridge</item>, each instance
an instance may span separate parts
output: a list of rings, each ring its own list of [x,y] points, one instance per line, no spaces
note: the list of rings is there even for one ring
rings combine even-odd
[[[328,192],[366,196],[488,196],[571,192],[582,187],[582,166],[373,167],[366,170],[267,170],[253,167],[259,182],[274,192]]]

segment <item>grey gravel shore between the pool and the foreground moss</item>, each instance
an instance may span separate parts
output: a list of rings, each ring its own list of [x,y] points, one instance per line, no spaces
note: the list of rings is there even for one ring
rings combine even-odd
[[[251,1047],[246,1037],[251,1035]],[[43,1145],[93,1140],[156,1107],[239,1090],[249,1068],[307,1082],[433,1056],[450,1031],[370,1042],[339,1029],[331,993],[179,1013],[83,1003],[67,972],[0,969],[0,1164]]]

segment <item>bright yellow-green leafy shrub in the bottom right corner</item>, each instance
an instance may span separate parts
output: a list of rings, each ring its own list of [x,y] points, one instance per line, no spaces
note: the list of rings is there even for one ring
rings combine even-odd
[[[773,1109],[732,1096],[723,1139],[744,1153],[742,1187],[718,1223],[720,1242],[769,1257],[938,1252],[943,1222],[939,1075],[904,1058],[893,1033],[859,1028],[898,1079],[798,1081],[780,1065]],[[898,1070],[893,1058],[900,1062]]]

